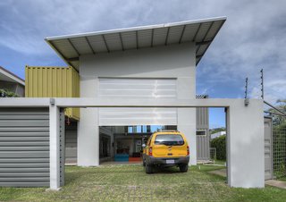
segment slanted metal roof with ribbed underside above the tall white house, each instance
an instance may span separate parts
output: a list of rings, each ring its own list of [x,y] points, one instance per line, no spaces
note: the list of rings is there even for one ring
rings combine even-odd
[[[197,64],[222,28],[226,17],[112,29],[45,38],[65,63],[78,69],[80,55],[195,42]]]

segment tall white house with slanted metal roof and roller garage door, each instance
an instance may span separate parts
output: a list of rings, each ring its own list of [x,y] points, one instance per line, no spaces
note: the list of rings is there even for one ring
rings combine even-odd
[[[194,99],[197,64],[225,20],[214,18],[89,32],[46,38],[46,42],[79,72],[80,97],[118,104],[128,104],[130,99],[133,102]],[[81,108],[78,164],[98,165],[100,156],[113,154],[137,156],[139,139],[130,143],[123,138],[116,141],[121,137],[111,135],[118,132],[127,137],[126,127],[130,126],[181,130],[190,145],[189,163],[197,164],[196,109],[176,106]]]

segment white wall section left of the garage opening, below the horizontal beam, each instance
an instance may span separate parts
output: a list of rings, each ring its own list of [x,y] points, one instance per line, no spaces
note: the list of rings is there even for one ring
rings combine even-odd
[[[98,108],[81,108],[78,123],[78,165],[99,165]]]

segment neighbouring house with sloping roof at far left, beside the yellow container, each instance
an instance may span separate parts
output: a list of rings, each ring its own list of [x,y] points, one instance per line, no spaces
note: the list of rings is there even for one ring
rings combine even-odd
[[[0,89],[13,92],[18,97],[24,97],[25,80],[0,66]]]

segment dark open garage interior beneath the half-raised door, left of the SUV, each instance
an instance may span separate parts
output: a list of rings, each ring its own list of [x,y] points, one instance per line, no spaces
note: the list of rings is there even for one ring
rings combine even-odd
[[[140,164],[143,144],[158,130],[177,130],[176,125],[99,127],[100,164]]]

